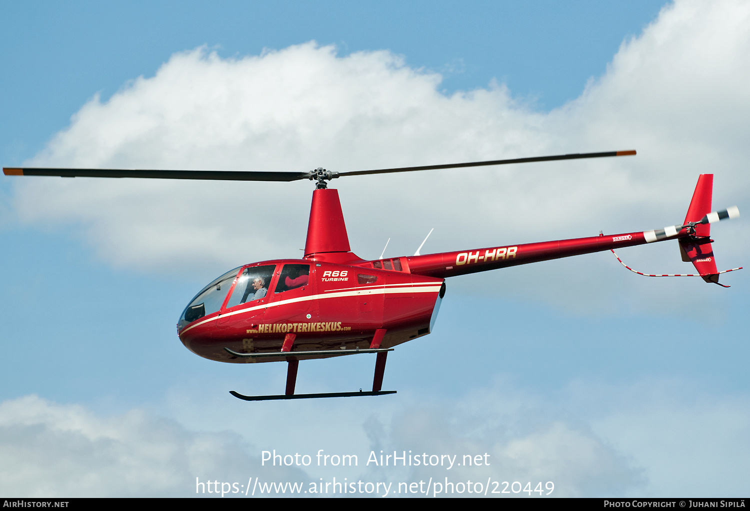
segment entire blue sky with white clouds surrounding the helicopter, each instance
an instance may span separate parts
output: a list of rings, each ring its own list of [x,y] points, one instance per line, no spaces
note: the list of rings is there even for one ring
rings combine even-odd
[[[4,6],[2,163],[350,170],[639,150],[337,182],[362,257],[389,237],[386,255],[411,254],[432,227],[422,253],[675,224],[702,172],[715,173],[717,209],[747,211],[742,6],[402,4]],[[226,269],[296,254],[309,183],[252,189],[248,217],[234,186],[31,179],[0,184],[2,493],[444,475],[274,472],[263,449],[492,452],[495,465],[462,475],[554,481],[561,496],[747,492],[743,272],[722,276],[728,290],[641,278],[607,252],[454,279],[437,331],[389,356],[397,395],[248,404],[228,391],[281,392],[286,368],[201,359],[174,324]],[[745,264],[742,222],[712,231],[721,269]],[[686,271],[676,246],[620,255]],[[302,364],[297,388],[364,388],[373,365]]]

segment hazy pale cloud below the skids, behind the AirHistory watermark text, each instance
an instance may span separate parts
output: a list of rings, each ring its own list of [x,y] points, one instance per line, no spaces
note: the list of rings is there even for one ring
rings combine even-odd
[[[231,406],[231,401],[211,401],[199,389],[180,389],[172,392],[170,401],[178,402],[174,413],[192,428],[210,430],[212,425],[221,424],[245,436],[258,437],[267,425],[275,425],[273,432],[260,435],[259,449],[312,454],[323,449],[326,454],[358,455],[356,468],[306,468],[314,480],[347,477],[391,482],[398,488],[399,483],[423,481],[426,485],[432,479],[443,482],[445,488],[447,477],[454,485],[466,485],[471,480],[485,488],[489,478],[493,482],[488,496],[493,496],[493,489],[504,488],[495,481],[522,482],[523,487],[532,482],[532,488],[539,482],[542,487],[552,482],[552,494],[557,497],[625,494],[637,492],[646,484],[642,468],[588,425],[561,412],[559,404],[550,407],[546,398],[523,392],[506,381],[441,401],[409,391],[399,395],[398,401],[363,398],[347,403],[326,400],[238,408]],[[378,464],[368,463],[371,452]],[[433,464],[428,467],[421,462],[419,466],[416,461],[410,463],[409,458],[405,467],[400,460],[394,466],[393,458],[388,466],[379,465],[381,453],[385,456],[394,452],[399,457],[405,454],[425,459],[426,454],[428,460],[437,458],[432,458]],[[452,465],[443,455],[452,457]],[[464,464],[468,463],[464,455],[472,458],[471,466]],[[473,464],[477,455],[481,457],[478,466]],[[514,488],[515,493],[508,491],[508,495],[517,496],[517,485]]]

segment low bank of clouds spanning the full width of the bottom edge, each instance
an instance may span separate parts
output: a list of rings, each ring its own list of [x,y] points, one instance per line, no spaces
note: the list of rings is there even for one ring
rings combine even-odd
[[[532,482],[532,488],[553,482],[557,497],[746,493],[747,395],[719,396],[695,381],[646,379],[615,386],[577,381],[542,396],[498,380],[441,401],[404,392],[398,401],[251,406],[207,392],[197,386],[172,392],[177,420],[138,409],[103,416],[36,396],[0,403],[0,491],[33,497],[190,497],[196,476],[240,484],[260,476],[263,482],[305,485],[335,476],[392,482],[394,488],[398,482],[446,477],[483,485],[487,478],[524,487]],[[313,462],[262,466],[262,449],[307,453]],[[356,454],[359,463],[317,467],[318,449]],[[379,456],[381,450],[455,455],[455,465],[366,464],[371,451]],[[481,455],[481,466],[463,466],[463,455],[474,460]],[[491,484],[490,491],[503,488]]]

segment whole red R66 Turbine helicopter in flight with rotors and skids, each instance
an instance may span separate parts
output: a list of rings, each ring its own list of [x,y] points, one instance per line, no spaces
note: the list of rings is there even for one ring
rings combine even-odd
[[[395,390],[381,390],[388,352],[398,344],[432,332],[446,293],[445,280],[449,277],[667,239],[678,240],[682,260],[693,263],[698,273],[648,276],[700,276],[706,282],[718,284],[721,273],[741,269],[723,272],[716,269],[710,224],[736,218],[739,211],[733,206],[711,212],[712,174],[700,175],[682,225],[607,236],[600,232],[599,236],[588,238],[495,245],[440,254],[420,255],[418,249],[410,257],[378,260],[363,260],[351,251],[338,191],[327,186],[331,179],[343,176],[627,155],[635,155],[635,151],[343,173],[323,168],[309,173],[51,168],[4,168],[3,172],[7,176],[316,181],[304,257],[251,263],[226,272],[190,300],[177,323],[182,344],[207,359],[230,363],[286,361],[284,394],[249,396],[231,391],[232,395],[246,401],[264,401],[395,393]],[[300,360],[357,353],[377,353],[371,392],[360,389],[359,392],[294,393]]]

